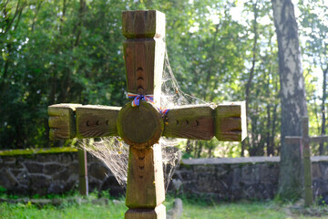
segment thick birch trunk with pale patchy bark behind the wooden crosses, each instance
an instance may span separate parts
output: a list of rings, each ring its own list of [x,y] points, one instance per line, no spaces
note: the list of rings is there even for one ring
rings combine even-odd
[[[302,116],[307,116],[301,48],[292,0],[272,0],[274,26],[278,38],[281,82],[282,127],[280,197],[302,197],[302,157],[300,144],[287,145],[284,137],[302,135]]]

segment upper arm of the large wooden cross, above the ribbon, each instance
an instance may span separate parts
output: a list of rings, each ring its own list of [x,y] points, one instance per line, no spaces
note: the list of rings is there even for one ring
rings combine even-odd
[[[160,96],[164,65],[165,15],[158,11],[123,12],[123,44],[128,92]]]

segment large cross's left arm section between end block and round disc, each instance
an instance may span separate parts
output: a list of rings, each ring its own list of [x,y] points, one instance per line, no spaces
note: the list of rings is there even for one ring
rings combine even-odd
[[[121,108],[86,105],[78,107],[77,138],[96,138],[118,135],[116,126]]]

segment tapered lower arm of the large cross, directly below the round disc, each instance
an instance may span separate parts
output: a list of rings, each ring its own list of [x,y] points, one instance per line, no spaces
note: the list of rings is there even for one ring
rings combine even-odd
[[[149,149],[129,148],[126,205],[154,209],[165,200],[160,145]]]

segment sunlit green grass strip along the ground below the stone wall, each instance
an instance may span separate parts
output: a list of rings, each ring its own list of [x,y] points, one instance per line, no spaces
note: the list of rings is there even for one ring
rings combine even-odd
[[[108,199],[108,204],[94,203],[92,196],[83,203],[64,201],[57,206],[39,206],[32,203],[0,203],[0,218],[19,219],[62,219],[62,218],[124,218],[127,211],[124,199]],[[67,199],[67,198],[66,198]],[[232,218],[328,218],[327,207],[314,207],[313,209],[296,210],[292,205],[280,205],[274,202],[267,203],[209,203],[202,200],[183,200],[184,219],[232,219]],[[173,198],[169,197],[165,205],[172,207]],[[292,210],[293,209],[293,210]],[[306,215],[308,214],[308,215]],[[310,216],[309,214],[316,215]]]

